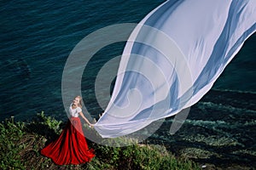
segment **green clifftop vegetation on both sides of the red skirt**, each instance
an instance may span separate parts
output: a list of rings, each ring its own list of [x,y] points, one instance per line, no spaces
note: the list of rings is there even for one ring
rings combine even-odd
[[[163,145],[110,147],[90,141],[89,147],[96,151],[92,161],[78,166],[57,166],[41,156],[39,150],[56,139],[64,125],[44,112],[29,123],[14,122],[13,118],[0,123],[0,169],[200,169],[186,158],[173,156]]]

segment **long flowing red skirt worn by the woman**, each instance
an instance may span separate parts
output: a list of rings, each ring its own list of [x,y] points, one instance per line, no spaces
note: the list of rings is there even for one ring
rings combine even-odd
[[[88,148],[79,117],[71,117],[60,137],[41,150],[41,154],[57,165],[82,164],[95,156],[94,150]]]

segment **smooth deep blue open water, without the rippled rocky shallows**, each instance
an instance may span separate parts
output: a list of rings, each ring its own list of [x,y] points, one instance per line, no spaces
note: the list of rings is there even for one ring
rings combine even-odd
[[[1,1],[0,120],[9,116],[26,120],[41,111],[65,117],[61,74],[74,46],[104,26],[137,23],[162,2]],[[256,35],[247,40],[213,88],[256,91],[255,41]],[[94,59],[106,62],[121,54],[123,47],[124,43],[113,44]],[[103,64],[90,65],[87,70],[92,71],[84,73],[84,103],[91,114],[102,111],[91,88]]]

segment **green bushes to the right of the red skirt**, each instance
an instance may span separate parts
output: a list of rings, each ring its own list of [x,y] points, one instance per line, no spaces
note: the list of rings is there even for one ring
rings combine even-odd
[[[89,165],[94,167],[91,169],[200,169],[192,161],[185,158],[177,159],[160,145],[133,144],[126,147],[98,145],[96,149],[100,155],[90,162]]]

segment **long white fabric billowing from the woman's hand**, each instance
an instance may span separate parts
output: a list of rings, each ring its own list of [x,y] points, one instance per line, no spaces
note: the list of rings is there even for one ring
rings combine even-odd
[[[256,0],[175,0],[155,8],[126,43],[96,131],[103,138],[119,137],[194,105],[255,23]]]

